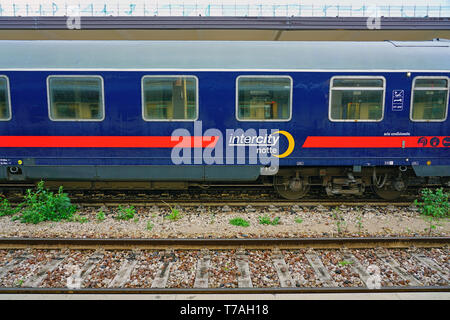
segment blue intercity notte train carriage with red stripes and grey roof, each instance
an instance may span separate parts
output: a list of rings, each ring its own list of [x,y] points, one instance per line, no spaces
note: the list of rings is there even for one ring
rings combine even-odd
[[[449,185],[450,42],[1,41],[1,185]]]

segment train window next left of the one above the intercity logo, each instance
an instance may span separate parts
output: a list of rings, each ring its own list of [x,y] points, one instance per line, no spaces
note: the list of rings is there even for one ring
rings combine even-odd
[[[194,121],[198,118],[195,76],[144,76],[142,117],[148,121]]]

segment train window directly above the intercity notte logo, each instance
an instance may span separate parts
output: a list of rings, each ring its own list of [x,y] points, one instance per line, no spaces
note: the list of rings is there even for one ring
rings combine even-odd
[[[240,76],[236,81],[238,120],[288,121],[291,119],[291,77]]]

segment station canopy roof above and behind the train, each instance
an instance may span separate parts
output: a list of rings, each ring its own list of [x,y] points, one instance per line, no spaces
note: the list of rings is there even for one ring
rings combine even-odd
[[[331,5],[330,5],[331,2]],[[0,40],[381,41],[450,38],[448,1],[13,0]],[[340,4],[339,4],[340,3]],[[359,3],[359,4],[358,4]],[[442,4],[443,3],[443,4]],[[356,5],[355,5],[356,4]],[[75,29],[68,19],[79,18]],[[72,21],[73,22],[73,21]],[[79,28],[78,28],[79,27]]]

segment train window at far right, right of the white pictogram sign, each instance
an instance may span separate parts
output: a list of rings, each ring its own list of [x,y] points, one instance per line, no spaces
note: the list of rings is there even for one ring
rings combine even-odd
[[[448,78],[414,78],[411,98],[411,120],[444,121],[447,118],[448,93]]]

